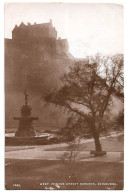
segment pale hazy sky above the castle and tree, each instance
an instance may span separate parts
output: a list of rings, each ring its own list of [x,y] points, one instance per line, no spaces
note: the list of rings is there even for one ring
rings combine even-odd
[[[50,19],[75,57],[123,53],[123,7],[116,4],[7,3],[5,37],[11,38],[15,24],[22,21],[33,24]]]

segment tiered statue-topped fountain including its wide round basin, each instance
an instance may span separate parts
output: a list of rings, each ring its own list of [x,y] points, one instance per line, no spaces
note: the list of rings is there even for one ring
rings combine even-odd
[[[31,116],[31,106],[28,105],[28,94],[25,90],[25,104],[21,107],[21,116],[14,117],[14,120],[19,121],[17,131],[13,136],[5,134],[5,145],[6,146],[26,146],[26,145],[45,145],[48,143],[47,133],[41,133],[37,135],[33,128],[33,121],[38,120],[38,117]]]

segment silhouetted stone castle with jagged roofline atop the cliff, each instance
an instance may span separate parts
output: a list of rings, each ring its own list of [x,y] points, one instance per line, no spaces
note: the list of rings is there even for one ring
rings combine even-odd
[[[23,22],[12,31],[12,41],[15,44],[41,44],[41,48],[49,48],[53,54],[68,54],[67,39],[57,38],[57,31],[52,25],[52,20],[48,23],[25,25]],[[43,50],[42,49],[42,50]]]

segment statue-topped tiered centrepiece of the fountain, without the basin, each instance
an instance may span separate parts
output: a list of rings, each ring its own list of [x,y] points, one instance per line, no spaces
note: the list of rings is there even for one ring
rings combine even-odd
[[[38,120],[38,117],[31,116],[31,106],[28,105],[28,94],[25,90],[25,105],[21,107],[21,117],[14,117],[14,120],[19,120],[19,127],[15,133],[15,137],[35,137],[36,133],[32,126],[33,120]]]

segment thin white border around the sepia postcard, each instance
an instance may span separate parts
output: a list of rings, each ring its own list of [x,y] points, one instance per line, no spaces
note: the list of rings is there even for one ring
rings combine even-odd
[[[6,193],[9,193],[9,194],[24,194],[24,193],[30,193],[31,195],[32,194],[35,194],[35,193],[39,193],[39,194],[48,194],[48,193],[61,193],[61,194],[64,194],[64,193],[72,193],[72,194],[76,194],[76,193],[80,193],[80,194],[90,194],[90,193],[97,193],[97,194],[108,194],[108,193],[111,193],[112,194],[117,194],[117,193],[126,193],[126,185],[124,185],[124,190],[122,191],[109,191],[109,190],[82,190],[82,191],[41,191],[41,190],[5,190],[4,189],[4,3],[12,3],[13,1],[10,1],[10,0],[0,0],[0,194],[6,194]],[[30,0],[30,1],[17,1],[17,0],[14,0],[14,2],[35,2],[35,0]],[[63,2],[63,3],[115,3],[115,4],[125,4],[125,0],[41,0],[41,1],[37,1],[37,2]],[[37,3],[35,2],[35,3]],[[126,16],[126,13],[125,13],[125,16]],[[126,34],[126,30],[124,32],[124,34]],[[124,37],[125,39],[125,37]],[[125,140],[125,143],[126,143],[126,140]],[[125,144],[126,145],[126,144]],[[125,147],[126,149],[126,147]],[[124,175],[126,176],[126,174]],[[126,177],[125,177],[126,179]],[[124,179],[124,181],[125,181]],[[126,183],[126,182],[125,182]]]

